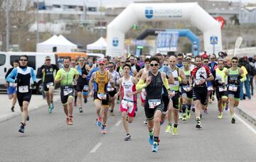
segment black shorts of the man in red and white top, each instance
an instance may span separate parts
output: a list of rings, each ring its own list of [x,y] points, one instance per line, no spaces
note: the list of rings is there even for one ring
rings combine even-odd
[[[206,105],[207,93],[208,90],[206,86],[193,87],[193,100],[200,100],[202,105]]]

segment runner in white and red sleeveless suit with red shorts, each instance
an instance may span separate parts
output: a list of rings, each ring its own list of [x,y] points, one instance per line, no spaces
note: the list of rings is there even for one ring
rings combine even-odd
[[[137,84],[137,79],[129,75],[129,71],[131,71],[131,69],[131,66],[129,66],[128,64],[124,64],[124,76],[121,79],[119,79],[119,91],[114,96],[114,98],[117,98],[117,96],[122,94],[120,110],[122,113],[122,124],[124,126],[125,132],[127,133],[126,137],[124,138],[124,141],[131,140],[131,134],[129,132],[128,123],[132,123],[136,115],[136,94],[140,92],[136,91],[135,88],[135,85]]]

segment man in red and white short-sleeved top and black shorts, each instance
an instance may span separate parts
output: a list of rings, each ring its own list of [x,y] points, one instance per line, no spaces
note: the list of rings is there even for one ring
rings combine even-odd
[[[201,129],[201,109],[206,110],[207,103],[207,86],[206,81],[212,81],[213,75],[210,73],[208,66],[203,65],[202,57],[195,58],[196,67],[191,71],[193,79],[193,101],[196,108],[196,128]]]

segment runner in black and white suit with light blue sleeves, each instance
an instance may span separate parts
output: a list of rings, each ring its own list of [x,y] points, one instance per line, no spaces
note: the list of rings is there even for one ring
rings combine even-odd
[[[18,105],[20,105],[22,112],[22,122],[18,132],[21,133],[24,133],[26,120],[29,120],[28,105],[32,95],[31,78],[33,80],[33,85],[36,85],[36,76],[33,68],[28,66],[28,57],[26,55],[21,55],[19,58],[19,66],[14,68],[11,71],[11,74],[6,78],[6,81],[9,83],[17,83]]]

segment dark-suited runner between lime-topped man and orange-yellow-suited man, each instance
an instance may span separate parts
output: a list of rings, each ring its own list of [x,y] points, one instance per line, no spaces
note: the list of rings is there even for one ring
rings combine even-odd
[[[88,80],[86,79],[88,72],[86,69],[85,58],[80,57],[78,59],[78,69],[79,77],[77,81],[76,91],[78,92],[78,106],[79,112],[82,113],[82,98],[84,98],[84,103],[87,103],[87,96],[88,96]]]

